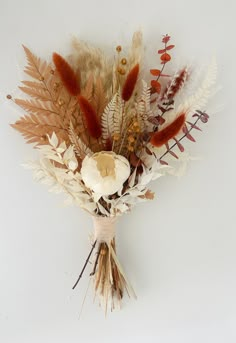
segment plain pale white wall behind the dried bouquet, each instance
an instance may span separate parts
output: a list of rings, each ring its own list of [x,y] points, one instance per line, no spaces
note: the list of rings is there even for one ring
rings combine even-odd
[[[236,341],[235,11],[234,0],[0,0],[0,342]],[[33,152],[9,127],[19,112],[4,96],[17,94],[22,43],[48,58],[73,34],[115,47],[140,27],[152,54],[168,32],[180,61],[215,55],[222,89],[209,125],[187,145],[202,159],[183,178],[158,180],[156,199],[119,222],[118,255],[138,300],[105,318],[90,289],[78,319],[88,272],[71,286],[91,220],[21,167]]]

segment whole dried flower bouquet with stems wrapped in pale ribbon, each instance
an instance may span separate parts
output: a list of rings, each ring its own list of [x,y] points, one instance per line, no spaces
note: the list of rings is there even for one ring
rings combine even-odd
[[[24,98],[8,96],[27,113],[12,127],[40,153],[27,164],[35,179],[93,217],[92,248],[73,288],[97,249],[90,276],[106,310],[117,307],[125,291],[135,297],[116,256],[116,219],[153,199],[149,183],[169,170],[171,158],[185,150],[184,140],[195,142],[194,130],[209,119],[205,106],[216,63],[195,94],[180,100],[190,72],[185,65],[174,75],[166,72],[175,47],[170,39],[162,38],[160,67],[149,69],[150,83],[143,79],[141,32],[128,53],[117,46],[110,60],[81,41],[74,41],[70,62],[53,53],[48,63],[24,47],[31,79],[19,86]]]

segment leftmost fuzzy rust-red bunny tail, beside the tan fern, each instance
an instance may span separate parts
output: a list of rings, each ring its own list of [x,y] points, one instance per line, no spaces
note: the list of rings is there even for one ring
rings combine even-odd
[[[67,91],[73,96],[78,95],[80,93],[80,85],[76,74],[69,63],[56,52],[53,53],[52,59]]]

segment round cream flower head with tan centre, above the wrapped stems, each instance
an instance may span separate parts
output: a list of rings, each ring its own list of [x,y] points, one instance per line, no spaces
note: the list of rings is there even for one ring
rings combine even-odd
[[[116,193],[130,175],[129,161],[112,151],[100,151],[82,162],[81,176],[93,192],[103,195]]]

